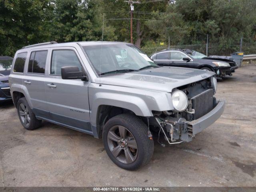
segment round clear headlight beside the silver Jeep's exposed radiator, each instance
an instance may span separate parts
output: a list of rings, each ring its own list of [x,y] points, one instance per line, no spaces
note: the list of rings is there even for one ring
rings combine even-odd
[[[172,93],[172,105],[176,111],[182,112],[188,107],[188,97],[183,91],[175,90]]]

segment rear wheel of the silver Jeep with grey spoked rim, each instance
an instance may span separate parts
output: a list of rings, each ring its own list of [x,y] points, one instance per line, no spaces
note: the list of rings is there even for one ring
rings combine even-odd
[[[22,97],[18,100],[17,111],[22,126],[27,130],[34,130],[41,126],[42,120],[36,119],[26,98]]]

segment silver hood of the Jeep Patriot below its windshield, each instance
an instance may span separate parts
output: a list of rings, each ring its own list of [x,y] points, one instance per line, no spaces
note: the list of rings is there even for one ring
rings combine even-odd
[[[96,78],[98,84],[172,92],[172,89],[206,79],[214,72],[180,67],[159,67]]]

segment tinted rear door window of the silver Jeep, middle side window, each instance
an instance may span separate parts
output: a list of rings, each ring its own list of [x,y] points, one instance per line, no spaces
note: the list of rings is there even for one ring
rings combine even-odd
[[[28,63],[28,73],[44,74],[47,52],[48,51],[31,52]]]

